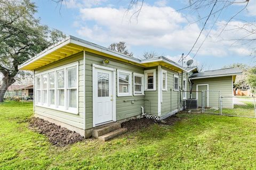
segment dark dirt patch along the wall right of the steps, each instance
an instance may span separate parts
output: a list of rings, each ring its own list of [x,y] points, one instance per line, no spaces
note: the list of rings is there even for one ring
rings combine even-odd
[[[156,121],[149,118],[141,118],[141,119],[134,119],[127,122],[123,122],[122,128],[127,128],[129,131],[137,131],[141,128],[147,128],[151,124],[163,124],[163,125],[173,125],[175,122],[182,120],[183,118],[178,116],[170,116],[163,121]]]

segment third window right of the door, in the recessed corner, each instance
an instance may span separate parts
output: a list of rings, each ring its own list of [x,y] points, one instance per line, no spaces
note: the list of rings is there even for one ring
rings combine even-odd
[[[145,70],[145,90],[156,90],[156,69]]]

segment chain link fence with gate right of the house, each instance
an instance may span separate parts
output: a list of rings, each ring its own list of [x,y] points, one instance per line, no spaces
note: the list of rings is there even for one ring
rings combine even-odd
[[[219,90],[180,91],[183,111],[256,118],[254,96],[221,96]]]

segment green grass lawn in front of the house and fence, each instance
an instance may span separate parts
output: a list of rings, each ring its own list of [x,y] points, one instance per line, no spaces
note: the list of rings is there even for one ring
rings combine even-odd
[[[50,145],[28,129],[31,103],[0,104],[0,169],[255,169],[256,119],[212,114],[151,125],[108,142]]]

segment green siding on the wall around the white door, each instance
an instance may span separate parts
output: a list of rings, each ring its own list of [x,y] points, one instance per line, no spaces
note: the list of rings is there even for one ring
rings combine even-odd
[[[92,128],[92,64],[103,65],[102,61],[108,59],[110,62],[107,67],[126,70],[136,73],[144,73],[143,67],[134,66],[132,64],[127,64],[121,61],[117,61],[104,56],[92,54],[86,52],[86,66],[85,66],[85,91],[86,91],[86,129]],[[117,83],[117,75],[116,75]],[[117,84],[116,84],[117,87]],[[132,76],[132,92],[133,92],[133,76]],[[116,89],[117,94],[117,89]],[[124,100],[135,100],[134,103],[124,102]],[[117,97],[116,96],[116,120],[123,120],[128,117],[137,116],[141,114],[141,106],[144,107],[144,96],[127,96],[127,97]]]

